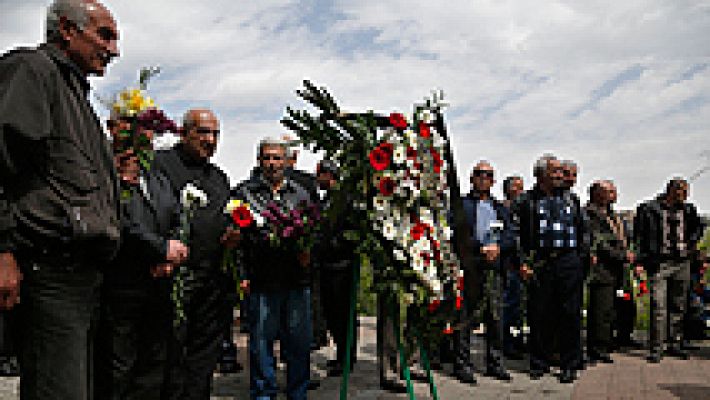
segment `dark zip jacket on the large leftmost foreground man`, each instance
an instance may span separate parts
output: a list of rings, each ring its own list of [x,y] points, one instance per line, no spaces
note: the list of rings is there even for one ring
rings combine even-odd
[[[54,45],[0,58],[0,251],[100,265],[118,249],[118,183],[89,88]]]

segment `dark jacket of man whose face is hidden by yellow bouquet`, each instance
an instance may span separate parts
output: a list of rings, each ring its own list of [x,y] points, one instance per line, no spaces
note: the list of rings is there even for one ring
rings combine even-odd
[[[166,261],[168,240],[177,238],[180,200],[168,178],[151,170],[121,204],[121,248],[107,271],[113,282],[147,278],[152,266]]]

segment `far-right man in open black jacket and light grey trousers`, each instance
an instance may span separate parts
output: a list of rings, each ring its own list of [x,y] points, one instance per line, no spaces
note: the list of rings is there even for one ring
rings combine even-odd
[[[639,260],[648,271],[651,326],[648,361],[660,362],[663,353],[687,359],[681,348],[683,314],[690,284],[690,264],[698,257],[703,225],[695,206],[687,202],[688,182],[671,179],[666,190],[636,209],[634,235]],[[664,348],[665,347],[665,348]]]

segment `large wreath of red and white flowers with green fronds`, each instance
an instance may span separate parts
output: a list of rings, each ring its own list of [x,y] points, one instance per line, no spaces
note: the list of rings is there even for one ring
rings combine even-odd
[[[321,114],[288,108],[282,123],[340,167],[324,218],[344,215],[357,227],[344,235],[357,243],[356,261],[373,269],[374,289],[406,314],[403,336],[436,342],[452,331],[463,287],[449,224],[442,96],[416,105],[409,118],[347,114],[325,89],[304,84],[298,94]]]

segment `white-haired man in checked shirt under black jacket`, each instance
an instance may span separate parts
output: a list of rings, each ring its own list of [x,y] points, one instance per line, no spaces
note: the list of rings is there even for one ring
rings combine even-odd
[[[560,333],[560,382],[571,383],[581,364],[580,329],[583,261],[588,257],[586,218],[566,190],[562,165],[551,155],[535,164],[536,185],[513,206],[518,227],[521,272],[531,279],[530,377],[539,379],[550,368],[552,339]]]

